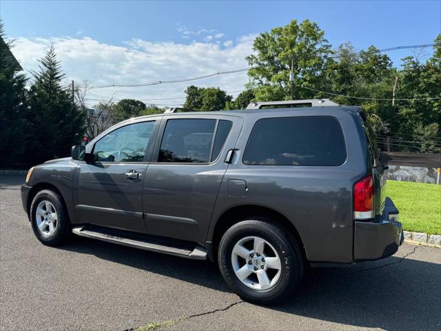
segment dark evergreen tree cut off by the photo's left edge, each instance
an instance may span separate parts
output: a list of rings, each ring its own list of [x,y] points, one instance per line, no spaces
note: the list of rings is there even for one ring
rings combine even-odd
[[[26,78],[10,55],[0,20],[0,168],[17,165],[26,139]]]

